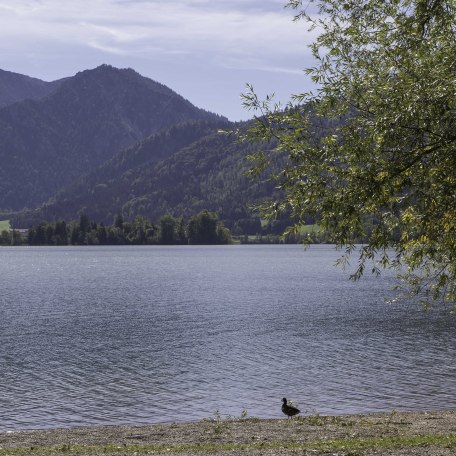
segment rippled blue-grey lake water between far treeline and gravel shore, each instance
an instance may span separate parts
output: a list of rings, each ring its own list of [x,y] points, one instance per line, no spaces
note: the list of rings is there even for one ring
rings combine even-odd
[[[0,430],[456,408],[456,317],[330,246],[0,249]]]

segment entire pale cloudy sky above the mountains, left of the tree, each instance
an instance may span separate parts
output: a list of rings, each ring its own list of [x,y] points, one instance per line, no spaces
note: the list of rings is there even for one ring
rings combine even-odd
[[[0,68],[51,81],[130,67],[231,120],[251,83],[308,90],[313,40],[285,0],[0,0]]]

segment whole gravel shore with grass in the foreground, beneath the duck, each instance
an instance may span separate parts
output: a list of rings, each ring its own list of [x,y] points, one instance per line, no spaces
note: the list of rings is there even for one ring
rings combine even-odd
[[[431,439],[432,437],[432,439]],[[436,439],[434,440],[434,437]],[[456,411],[0,433],[4,455],[456,455]]]

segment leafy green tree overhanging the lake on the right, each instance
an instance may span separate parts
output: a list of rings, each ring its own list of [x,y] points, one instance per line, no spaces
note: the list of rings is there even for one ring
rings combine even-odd
[[[312,5],[313,4],[313,5]],[[272,143],[252,174],[271,170],[283,198],[263,207],[307,216],[339,246],[396,267],[425,303],[456,298],[456,4],[452,0],[287,3],[320,31],[307,70],[317,89],[286,109],[258,99],[245,135]],[[316,6],[315,17],[311,17]],[[366,221],[370,228],[366,229]],[[368,231],[368,232],[367,232]],[[391,254],[391,250],[393,253]]]

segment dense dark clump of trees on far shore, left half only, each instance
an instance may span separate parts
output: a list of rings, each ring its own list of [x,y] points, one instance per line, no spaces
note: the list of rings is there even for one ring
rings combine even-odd
[[[97,223],[82,213],[79,220],[43,221],[30,227],[27,237],[17,231],[0,233],[0,245],[184,245],[230,244],[231,233],[214,212],[203,210],[185,222],[166,214],[158,224],[143,216],[125,221],[115,217],[112,225]]]

